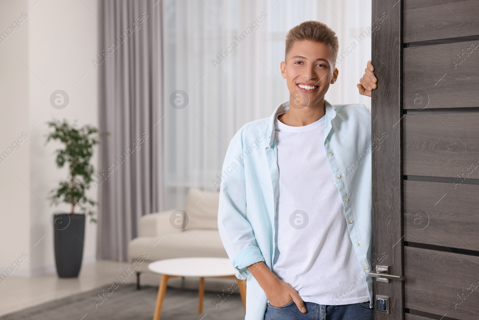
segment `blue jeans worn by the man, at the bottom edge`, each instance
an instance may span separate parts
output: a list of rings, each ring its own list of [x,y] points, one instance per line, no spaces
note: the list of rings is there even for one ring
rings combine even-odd
[[[264,320],[372,320],[373,309],[369,301],[350,305],[325,306],[305,302],[306,313],[301,313],[296,303],[291,301],[283,307],[266,305]]]

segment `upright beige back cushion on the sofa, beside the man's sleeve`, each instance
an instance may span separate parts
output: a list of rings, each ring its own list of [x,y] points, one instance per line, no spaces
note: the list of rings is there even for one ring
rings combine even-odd
[[[185,211],[190,223],[184,230],[218,229],[219,192],[190,188],[186,197]]]

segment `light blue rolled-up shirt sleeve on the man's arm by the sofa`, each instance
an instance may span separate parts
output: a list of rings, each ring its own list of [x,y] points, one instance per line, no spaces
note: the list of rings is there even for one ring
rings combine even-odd
[[[246,218],[246,183],[241,130],[229,143],[223,163],[218,205],[218,230],[229,260],[238,271],[236,277],[246,279],[249,265],[264,261],[257,246],[251,224]]]

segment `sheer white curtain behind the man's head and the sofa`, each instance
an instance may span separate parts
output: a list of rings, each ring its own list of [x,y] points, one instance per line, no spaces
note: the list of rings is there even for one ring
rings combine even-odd
[[[329,25],[340,40],[339,79],[326,99],[370,106],[356,88],[371,55],[370,0],[163,1],[167,207],[181,208],[190,187],[214,190],[235,132],[288,99],[285,35],[303,21]]]

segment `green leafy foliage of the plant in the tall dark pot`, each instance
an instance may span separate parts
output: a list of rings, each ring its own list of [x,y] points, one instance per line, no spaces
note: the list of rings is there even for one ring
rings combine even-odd
[[[96,222],[95,212],[91,207],[97,202],[87,196],[87,191],[93,180],[94,169],[90,160],[93,156],[93,146],[100,142],[97,136],[99,130],[87,125],[76,129],[70,126],[66,119],[63,122],[49,121],[48,127],[53,128],[53,132],[47,134],[46,143],[57,140],[64,144],[64,148],[55,151],[57,166],[62,168],[68,164],[68,178],[61,180],[58,188],[50,191],[49,199],[52,204],[60,202],[70,204],[72,215],[75,214],[75,206],[78,205],[81,213],[88,214],[90,221]]]

